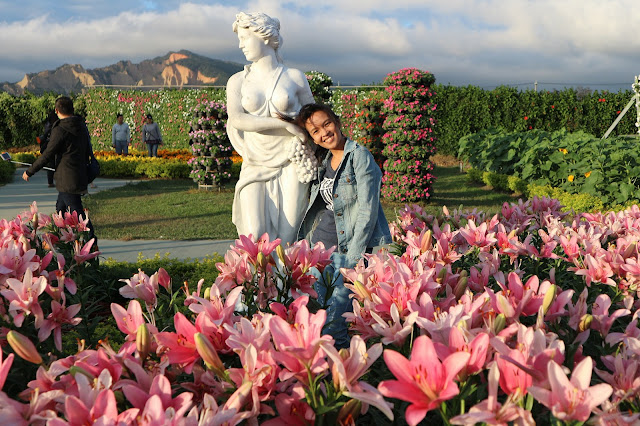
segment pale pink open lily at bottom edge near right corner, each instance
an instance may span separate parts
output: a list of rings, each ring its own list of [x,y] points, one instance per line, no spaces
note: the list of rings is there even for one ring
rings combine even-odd
[[[593,410],[613,392],[606,383],[589,386],[592,370],[593,361],[587,357],[574,367],[569,380],[562,367],[551,361],[547,369],[551,389],[531,386],[529,393],[559,420],[587,421]]]

